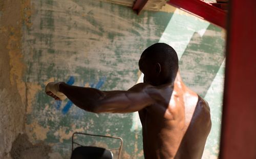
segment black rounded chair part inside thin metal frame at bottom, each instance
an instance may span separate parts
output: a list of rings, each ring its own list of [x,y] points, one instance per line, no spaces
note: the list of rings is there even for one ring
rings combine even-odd
[[[71,159],[112,159],[113,153],[101,147],[80,146],[73,150]]]

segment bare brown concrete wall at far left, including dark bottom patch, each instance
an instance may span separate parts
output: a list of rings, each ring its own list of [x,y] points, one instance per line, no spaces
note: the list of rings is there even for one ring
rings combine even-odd
[[[51,154],[50,146],[30,143],[25,132],[29,83],[24,82],[22,36],[23,24],[29,21],[28,4],[0,1],[0,158],[44,159]]]

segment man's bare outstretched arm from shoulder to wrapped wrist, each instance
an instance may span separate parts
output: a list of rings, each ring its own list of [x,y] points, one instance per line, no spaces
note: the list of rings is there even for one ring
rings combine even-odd
[[[145,83],[136,84],[127,91],[100,91],[95,88],[71,86],[64,82],[56,84],[58,84],[58,91],[66,95],[76,106],[96,113],[135,112],[155,102],[148,95],[152,87]],[[47,94],[58,99],[49,91]]]

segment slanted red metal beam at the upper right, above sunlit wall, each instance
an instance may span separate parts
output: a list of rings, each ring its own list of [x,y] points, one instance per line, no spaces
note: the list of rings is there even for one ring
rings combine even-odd
[[[170,0],[167,4],[203,18],[212,24],[226,29],[227,13],[200,0]]]

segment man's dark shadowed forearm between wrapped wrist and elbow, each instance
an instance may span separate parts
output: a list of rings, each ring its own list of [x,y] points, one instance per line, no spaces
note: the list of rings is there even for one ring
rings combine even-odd
[[[95,108],[103,93],[95,88],[78,87],[64,82],[59,84],[59,92],[65,94],[76,106],[81,109],[95,112]]]

